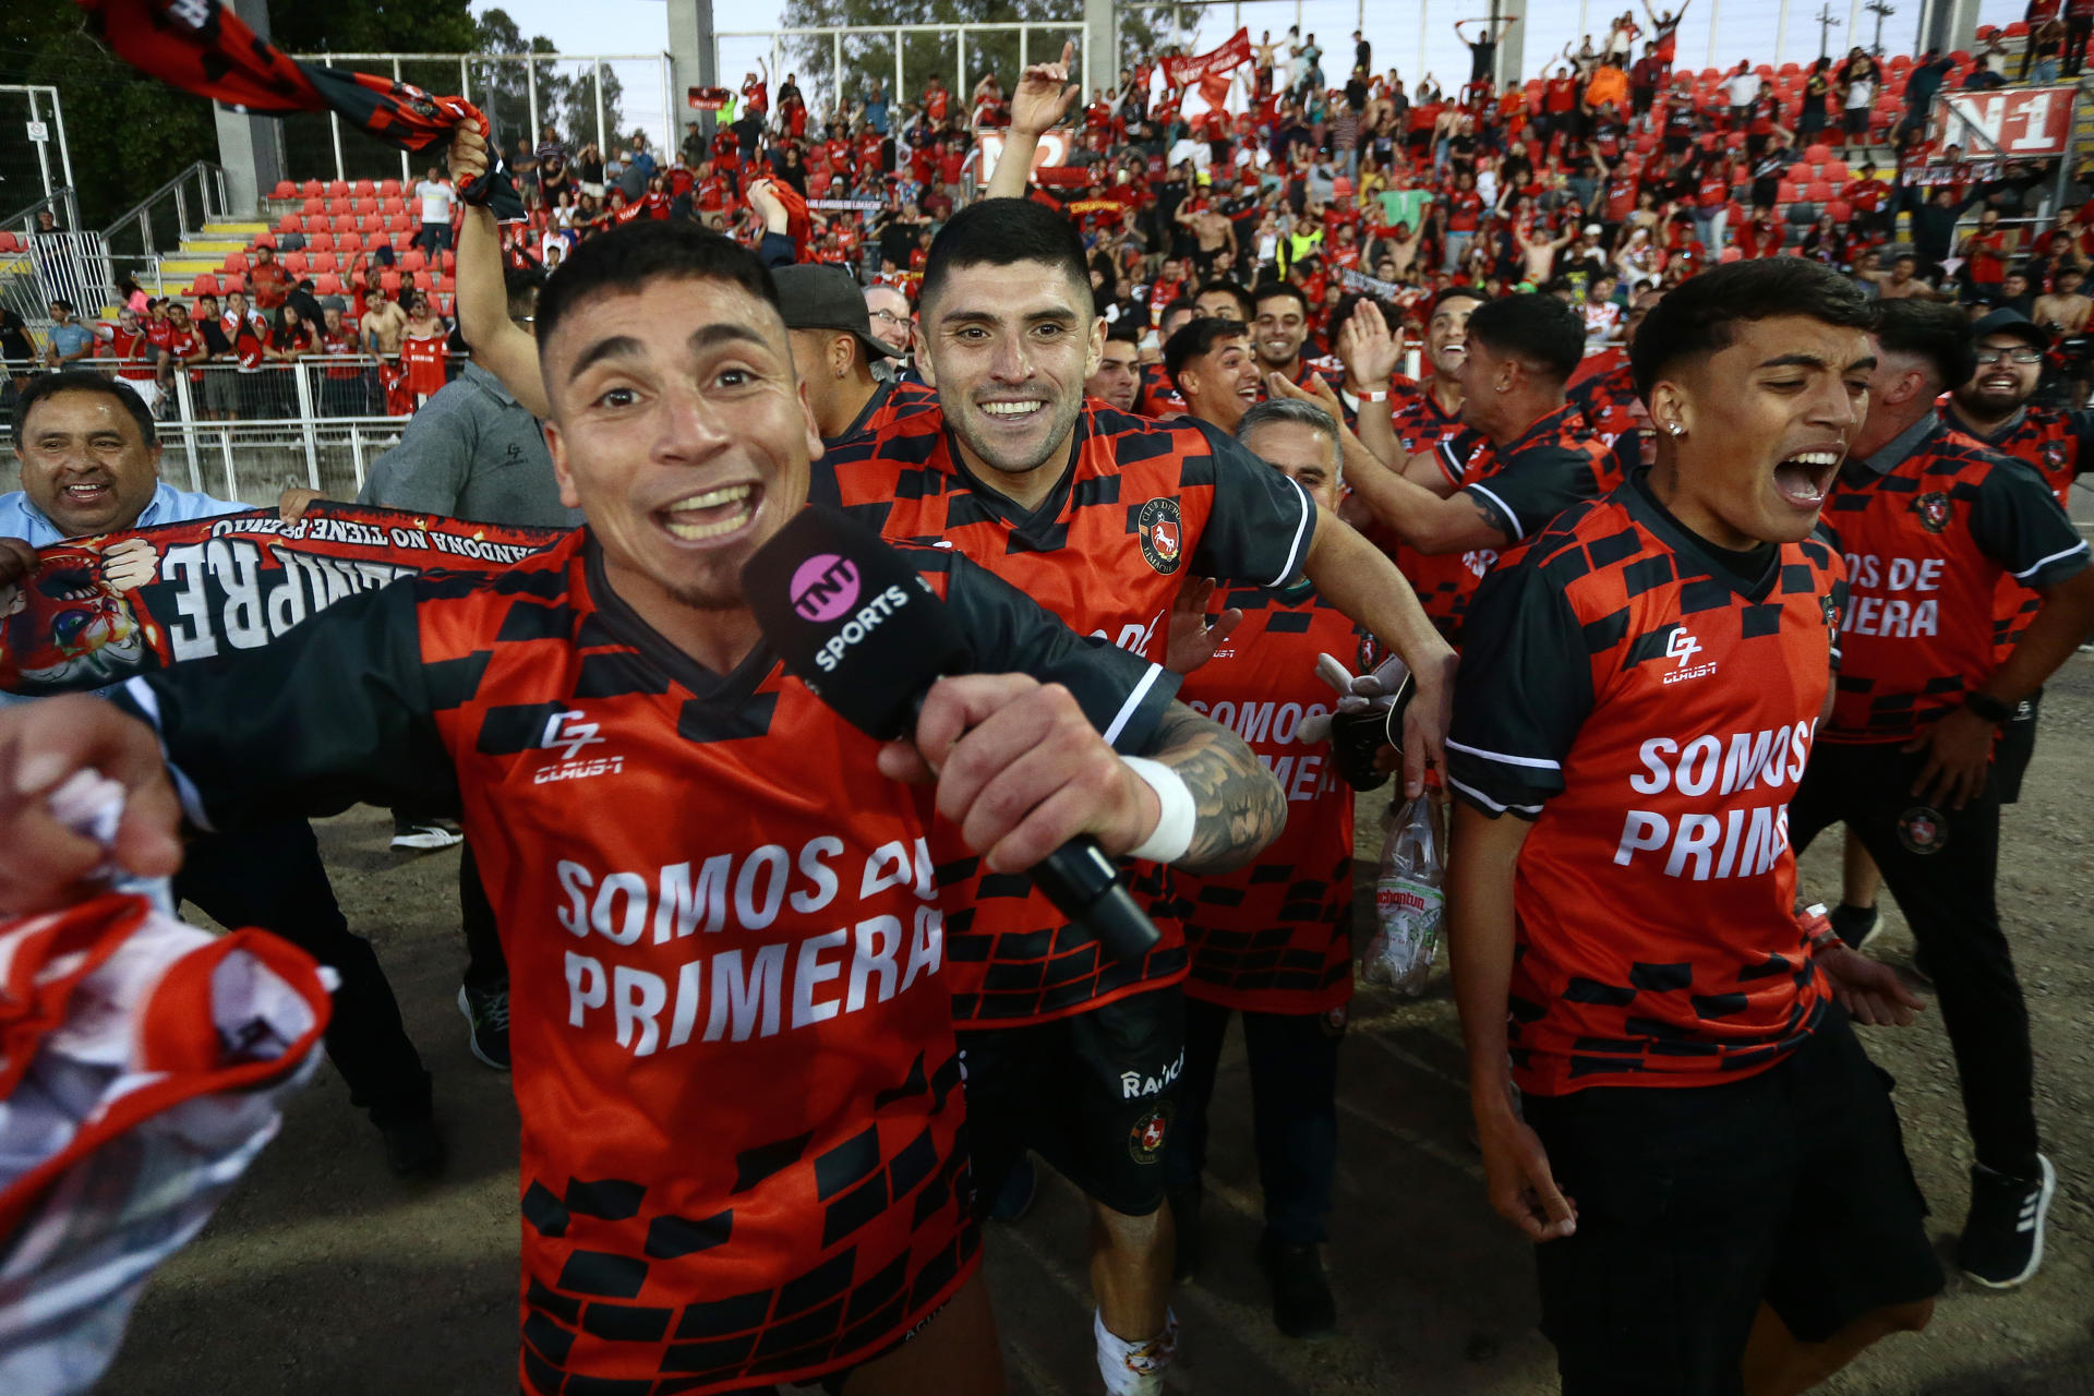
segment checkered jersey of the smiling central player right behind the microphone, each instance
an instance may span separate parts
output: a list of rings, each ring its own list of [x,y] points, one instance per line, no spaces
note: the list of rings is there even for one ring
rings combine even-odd
[[[1185,578],[1277,584],[1300,571],[1315,502],[1233,440],[1191,419],[1152,421],[1091,400],[1072,450],[1055,490],[1024,511],[967,471],[942,412],[917,412],[829,450],[810,492],[890,540],[972,557],[1070,630],[1156,661]],[[932,852],[955,904],[972,902],[949,923],[961,1026],[1062,1017],[1185,973],[1179,904],[1162,869],[1137,864],[1133,879],[1162,942],[1141,961],[1106,961],[1028,877],[988,873],[957,841],[934,841]]]

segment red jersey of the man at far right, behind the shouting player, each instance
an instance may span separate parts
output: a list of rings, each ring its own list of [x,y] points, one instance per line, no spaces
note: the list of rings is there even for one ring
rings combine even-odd
[[[2088,565],[2042,475],[1939,416],[1841,467],[1824,521],[1853,586],[1826,741],[1906,741],[1960,707],[2000,663],[2002,578],[2050,588]]]

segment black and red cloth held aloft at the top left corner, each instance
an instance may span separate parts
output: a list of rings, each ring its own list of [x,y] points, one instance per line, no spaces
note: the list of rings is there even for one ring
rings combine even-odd
[[[488,140],[488,174],[459,197],[484,203],[494,218],[524,218],[524,201],[500,163],[486,115],[463,96],[431,96],[346,67],[299,63],[260,38],[218,0],[75,0],[94,17],[109,48],[168,86],[258,117],[333,111],[389,147],[442,153],[467,121]]]

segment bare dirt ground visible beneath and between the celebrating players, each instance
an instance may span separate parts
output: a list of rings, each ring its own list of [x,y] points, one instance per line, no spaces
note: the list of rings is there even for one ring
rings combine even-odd
[[[2000,869],[2035,1032],[2037,1111],[2060,1176],[2044,1270],[2008,1296],[1952,1281],[1929,1333],[1885,1344],[1830,1392],[2094,1394],[2094,827],[2079,804],[2090,785],[2094,659],[2081,655],[2050,686],[2037,762],[2023,804],[2006,816]],[[1361,812],[1361,854],[1372,858],[1369,806]],[[320,829],[350,923],[377,942],[436,1072],[446,1174],[429,1185],[394,1180],[377,1134],[322,1069],[209,1231],[157,1275],[105,1392],[515,1392],[515,1105],[507,1078],[467,1055],[452,1003],[456,854],[394,856],[387,835],[373,810]],[[1805,883],[1826,900],[1836,894],[1834,854],[1822,843],[1805,858]],[[1910,938],[1895,913],[1891,923],[1878,954],[1903,967]],[[1912,1162],[1947,1258],[1970,1157],[1941,1026],[1924,1015],[1903,1032],[1868,1032],[1866,1042],[1899,1082]],[[1445,973],[1420,1000],[1361,994],[1355,1003],[1328,1247],[1338,1337],[1296,1344],[1271,1325],[1250,1258],[1258,1193],[1246,1097],[1242,1053],[1231,1044],[1217,1101],[1208,1264],[1175,1298],[1183,1348],[1171,1390],[1556,1390],[1550,1346],[1535,1331],[1527,1245],[1485,1206],[1468,1145]],[[1097,1390],[1083,1231],[1076,1193],[1049,1174],[1032,1216],[990,1233],[990,1287],[1016,1392]]]

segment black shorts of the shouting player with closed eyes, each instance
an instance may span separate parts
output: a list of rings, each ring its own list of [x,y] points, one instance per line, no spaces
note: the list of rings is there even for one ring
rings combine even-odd
[[[1744,1080],[1527,1097],[1577,1203],[1577,1233],[1535,1247],[1564,1396],[1736,1394],[1761,1302],[1824,1342],[1939,1293],[1887,1086],[1828,1005]]]

